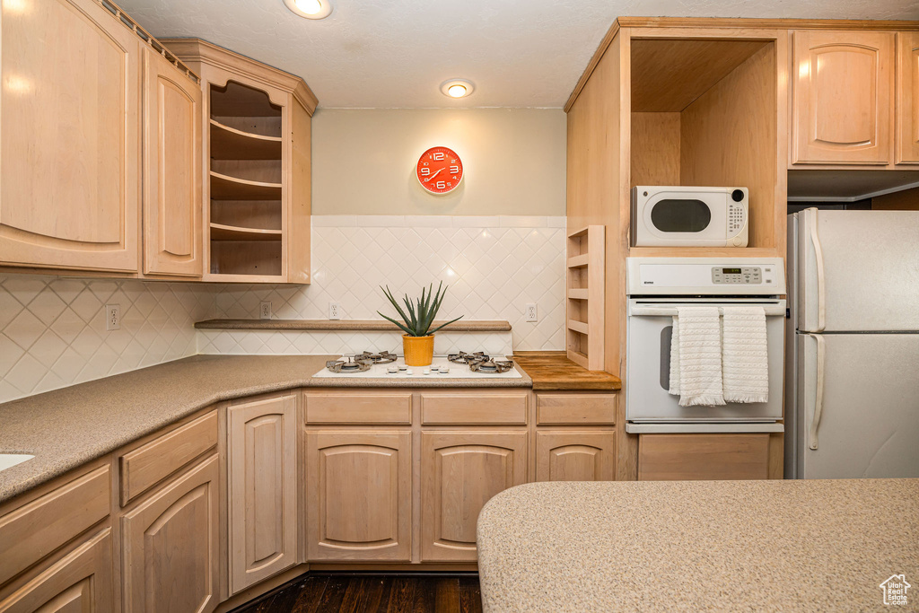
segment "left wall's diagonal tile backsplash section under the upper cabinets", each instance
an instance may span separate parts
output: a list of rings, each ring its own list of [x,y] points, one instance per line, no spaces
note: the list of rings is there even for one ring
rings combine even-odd
[[[198,353],[216,288],[0,275],[0,402]],[[105,305],[118,304],[119,330]]]

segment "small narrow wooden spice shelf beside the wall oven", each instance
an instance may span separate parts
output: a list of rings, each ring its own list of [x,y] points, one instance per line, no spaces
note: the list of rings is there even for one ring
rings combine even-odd
[[[568,234],[567,353],[588,370],[603,370],[606,232],[591,225]]]

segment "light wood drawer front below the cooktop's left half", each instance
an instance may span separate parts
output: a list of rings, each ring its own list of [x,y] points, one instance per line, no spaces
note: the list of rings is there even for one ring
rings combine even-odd
[[[308,393],[308,424],[411,424],[412,392]]]

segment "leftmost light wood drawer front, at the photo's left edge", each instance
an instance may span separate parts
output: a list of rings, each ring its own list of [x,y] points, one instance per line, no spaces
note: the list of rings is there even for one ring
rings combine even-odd
[[[108,517],[110,475],[100,466],[0,517],[0,584]]]

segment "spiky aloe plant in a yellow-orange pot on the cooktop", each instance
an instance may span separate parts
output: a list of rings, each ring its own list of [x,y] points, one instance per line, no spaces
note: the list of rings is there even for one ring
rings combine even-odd
[[[440,303],[444,301],[444,296],[447,295],[447,288],[444,288],[443,285],[444,282],[441,281],[440,285],[437,286],[437,292],[434,291],[433,283],[426,290],[422,288],[421,298],[416,298],[414,304],[412,304],[408,294],[405,294],[403,302],[407,312],[403,311],[403,308],[399,306],[399,302],[392,295],[389,286],[380,288],[392,303],[392,306],[399,312],[399,316],[403,318],[402,322],[397,322],[378,311],[381,317],[398,325],[405,333],[403,334],[403,354],[406,366],[430,366],[434,360],[434,333],[442,327],[462,319],[462,315],[459,315],[456,319],[451,319],[446,324],[440,324],[433,330],[431,329],[431,325],[434,324],[434,318],[437,316],[437,311],[440,310]]]

